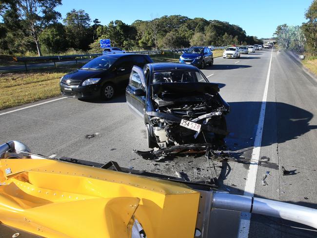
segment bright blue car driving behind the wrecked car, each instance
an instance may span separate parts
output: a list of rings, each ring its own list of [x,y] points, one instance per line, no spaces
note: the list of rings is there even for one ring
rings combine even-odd
[[[203,69],[214,64],[213,52],[208,47],[190,47],[179,57],[179,63],[192,64]]]

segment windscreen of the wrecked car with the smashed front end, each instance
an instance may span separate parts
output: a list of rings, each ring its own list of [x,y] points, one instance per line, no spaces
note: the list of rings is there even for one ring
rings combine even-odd
[[[154,72],[152,83],[207,82],[198,71],[168,70]]]

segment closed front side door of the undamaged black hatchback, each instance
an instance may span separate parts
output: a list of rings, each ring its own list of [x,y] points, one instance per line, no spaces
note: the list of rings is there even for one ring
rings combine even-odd
[[[116,62],[115,70],[115,79],[114,82],[117,84],[119,88],[125,88],[129,82],[129,76],[131,73],[131,69],[133,67],[133,60],[131,56],[127,55],[121,57]]]

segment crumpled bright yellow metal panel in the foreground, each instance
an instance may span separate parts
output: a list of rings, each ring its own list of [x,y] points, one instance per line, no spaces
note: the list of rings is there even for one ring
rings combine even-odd
[[[133,216],[148,238],[194,236],[183,184],[50,159],[0,159],[0,182],[0,222],[44,237],[124,238]]]

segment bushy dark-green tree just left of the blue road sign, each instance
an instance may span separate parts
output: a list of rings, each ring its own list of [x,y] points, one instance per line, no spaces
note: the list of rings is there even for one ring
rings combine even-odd
[[[75,9],[66,14],[63,20],[69,46],[75,49],[87,50],[93,42],[90,29],[90,17],[84,10]]]

